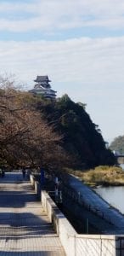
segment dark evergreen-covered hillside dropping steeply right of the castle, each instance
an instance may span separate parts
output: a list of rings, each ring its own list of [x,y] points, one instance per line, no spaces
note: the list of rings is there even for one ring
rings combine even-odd
[[[72,102],[65,95],[54,102],[38,102],[37,109],[63,136],[63,147],[76,156],[76,165],[89,168],[116,164],[114,154],[105,148],[99,127],[90,119],[85,105]]]

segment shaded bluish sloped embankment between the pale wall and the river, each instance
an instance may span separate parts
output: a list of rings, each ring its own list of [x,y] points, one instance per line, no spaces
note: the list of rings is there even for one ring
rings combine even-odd
[[[78,219],[87,218],[102,234],[124,234],[124,216],[76,177],[69,176],[64,204]],[[70,203],[71,202],[71,203]]]

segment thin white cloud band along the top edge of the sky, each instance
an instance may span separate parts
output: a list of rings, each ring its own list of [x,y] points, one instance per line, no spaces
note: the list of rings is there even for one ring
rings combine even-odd
[[[17,13],[32,14],[18,20]],[[82,26],[124,27],[123,0],[34,0],[24,3],[0,3],[0,13],[11,13],[15,19],[0,19],[0,30],[28,32],[54,31]]]

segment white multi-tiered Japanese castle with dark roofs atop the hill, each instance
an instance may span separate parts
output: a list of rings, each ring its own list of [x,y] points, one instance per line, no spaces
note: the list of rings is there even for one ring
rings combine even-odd
[[[29,92],[44,96],[45,98],[54,99],[56,97],[56,91],[51,89],[51,82],[48,79],[48,76],[37,76],[37,79],[34,80],[37,84],[35,84],[34,89],[29,90]]]

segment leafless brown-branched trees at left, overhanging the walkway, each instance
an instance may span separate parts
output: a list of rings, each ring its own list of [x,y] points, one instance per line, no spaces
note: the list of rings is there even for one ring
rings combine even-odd
[[[14,90],[9,81],[0,79],[0,84],[8,85],[0,89],[0,164],[51,169],[64,165],[68,156],[61,137],[37,112],[37,99]]]

